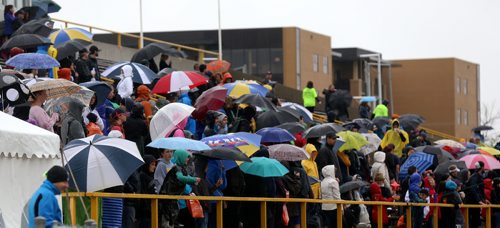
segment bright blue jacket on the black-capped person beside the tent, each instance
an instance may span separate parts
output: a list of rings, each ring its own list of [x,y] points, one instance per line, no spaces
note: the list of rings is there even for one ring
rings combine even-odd
[[[43,216],[46,219],[45,227],[52,227],[52,222],[62,223],[61,209],[56,195],[61,194],[52,182],[45,180],[42,186],[31,196],[28,206],[29,227],[35,227],[35,217]]]

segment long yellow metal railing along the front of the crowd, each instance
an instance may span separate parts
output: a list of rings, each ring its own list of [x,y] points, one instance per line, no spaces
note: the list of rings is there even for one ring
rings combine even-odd
[[[377,222],[378,227],[383,227],[383,206],[396,206],[404,207],[406,210],[406,227],[411,228],[411,207],[412,206],[430,206],[435,208],[442,207],[454,207],[453,204],[442,204],[442,203],[402,203],[402,202],[385,202],[385,201],[347,201],[347,200],[320,200],[320,199],[301,199],[301,198],[254,198],[254,197],[214,197],[214,196],[174,196],[174,195],[151,195],[151,194],[119,194],[119,193],[101,193],[101,192],[87,192],[87,193],[68,193],[63,197],[69,197],[70,201],[70,212],[71,212],[71,223],[76,225],[76,197],[89,197],[90,198],[90,216],[91,219],[95,220],[98,224],[100,222],[99,218],[99,198],[125,198],[125,199],[150,199],[151,200],[151,226],[153,228],[158,227],[158,206],[159,200],[199,200],[199,201],[216,201],[216,213],[217,213],[217,227],[222,227],[223,221],[223,205],[224,202],[238,201],[238,202],[260,202],[260,224],[262,228],[267,227],[266,218],[266,205],[268,202],[280,202],[280,203],[299,203],[300,204],[300,221],[301,227],[307,227],[307,204],[308,203],[335,203],[337,204],[337,227],[342,228],[342,214],[343,208],[346,205],[352,204],[364,204],[372,205],[378,207]],[[464,218],[466,227],[468,227],[468,212],[469,208],[486,208],[486,228],[491,228],[491,209],[500,208],[500,205],[470,205],[461,204],[461,208],[465,209]],[[368,212],[370,213],[370,212]],[[434,210],[433,216],[433,226],[438,227],[438,210]]]

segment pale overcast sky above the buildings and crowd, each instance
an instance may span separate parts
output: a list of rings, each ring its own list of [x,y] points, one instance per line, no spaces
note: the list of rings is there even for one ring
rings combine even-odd
[[[456,57],[481,65],[481,100],[500,100],[500,1],[220,0],[222,28],[297,26],[385,59]],[[52,17],[139,30],[139,0],[59,0]],[[143,0],[144,31],[217,28],[217,0]]]

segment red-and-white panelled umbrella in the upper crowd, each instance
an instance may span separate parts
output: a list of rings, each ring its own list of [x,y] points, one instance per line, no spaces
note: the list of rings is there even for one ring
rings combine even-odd
[[[207,84],[207,79],[194,71],[174,71],[162,77],[153,88],[153,93],[167,94],[181,90],[183,87],[190,89]]]

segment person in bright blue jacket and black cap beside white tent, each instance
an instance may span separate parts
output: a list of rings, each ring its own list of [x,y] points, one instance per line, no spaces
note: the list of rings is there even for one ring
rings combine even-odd
[[[47,171],[47,179],[31,196],[28,204],[29,227],[35,227],[35,218],[44,217],[45,227],[52,227],[54,221],[62,224],[62,213],[56,195],[69,187],[68,173],[61,166],[53,166]]]

